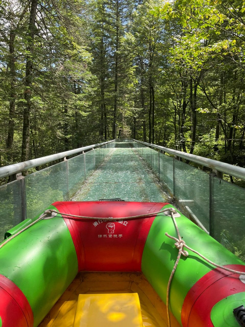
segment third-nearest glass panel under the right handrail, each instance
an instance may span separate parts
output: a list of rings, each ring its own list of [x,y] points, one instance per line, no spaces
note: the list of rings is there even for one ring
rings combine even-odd
[[[173,158],[159,152],[159,181],[167,186],[173,195]]]

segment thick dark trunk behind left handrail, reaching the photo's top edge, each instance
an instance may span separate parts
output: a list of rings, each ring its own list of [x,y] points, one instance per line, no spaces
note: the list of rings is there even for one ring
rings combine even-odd
[[[30,146],[30,115],[31,115],[31,87],[33,73],[33,52],[34,52],[34,35],[36,31],[35,21],[37,13],[37,0],[31,1],[31,12],[28,30],[28,43],[26,47],[26,65],[25,65],[25,107],[23,112],[23,133],[22,133],[22,149],[21,161],[28,160]]]

